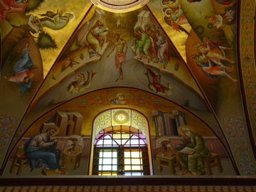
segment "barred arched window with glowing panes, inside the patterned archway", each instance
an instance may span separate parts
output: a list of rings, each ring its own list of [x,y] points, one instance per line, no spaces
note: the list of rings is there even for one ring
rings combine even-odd
[[[139,129],[114,126],[95,138],[92,175],[150,175],[146,137]]]

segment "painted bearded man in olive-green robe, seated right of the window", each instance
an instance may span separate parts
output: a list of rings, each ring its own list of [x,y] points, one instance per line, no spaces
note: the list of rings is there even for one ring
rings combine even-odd
[[[210,156],[210,150],[206,147],[206,140],[201,135],[192,132],[188,127],[182,127],[181,132],[191,138],[191,143],[186,144],[191,148],[191,151],[186,151],[185,154],[179,153],[176,156],[177,161],[182,166],[182,174],[190,172],[193,176],[201,175],[204,171],[206,157]]]

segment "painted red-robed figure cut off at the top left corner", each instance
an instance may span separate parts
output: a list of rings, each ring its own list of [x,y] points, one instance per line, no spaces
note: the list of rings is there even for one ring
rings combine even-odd
[[[4,23],[8,13],[21,13],[26,10],[30,0],[0,0],[0,18]]]

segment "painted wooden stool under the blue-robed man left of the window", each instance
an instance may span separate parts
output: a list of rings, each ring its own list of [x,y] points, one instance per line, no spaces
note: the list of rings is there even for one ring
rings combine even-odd
[[[14,156],[14,161],[11,164],[10,173],[14,172],[15,166],[18,166],[17,176],[21,175],[21,171],[24,166],[29,166],[27,162],[27,157],[25,156],[25,151],[23,148],[18,147],[16,154]]]

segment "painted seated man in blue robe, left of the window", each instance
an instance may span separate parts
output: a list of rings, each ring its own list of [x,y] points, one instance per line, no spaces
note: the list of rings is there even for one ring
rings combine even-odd
[[[50,136],[55,136],[59,132],[60,128],[57,126],[46,127],[41,134],[36,134],[26,141],[24,151],[31,171],[44,166],[45,169],[55,169],[56,174],[65,174],[64,171],[60,170],[59,165],[61,151],[55,149],[58,139],[50,141]]]

